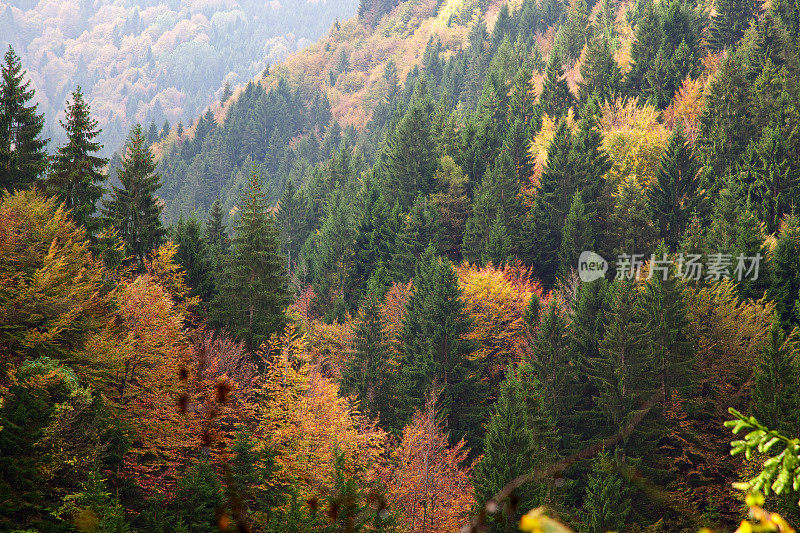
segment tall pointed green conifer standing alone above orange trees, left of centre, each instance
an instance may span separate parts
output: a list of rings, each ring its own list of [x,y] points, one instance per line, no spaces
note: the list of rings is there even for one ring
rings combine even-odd
[[[278,230],[255,168],[240,205],[233,251],[225,261],[211,316],[255,350],[286,324],[288,279]]]

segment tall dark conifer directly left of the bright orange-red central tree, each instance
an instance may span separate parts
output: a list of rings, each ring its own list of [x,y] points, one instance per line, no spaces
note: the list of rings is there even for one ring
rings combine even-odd
[[[449,261],[437,258],[428,246],[417,263],[414,293],[408,300],[400,335],[398,422],[410,419],[432,390],[441,390],[439,401],[451,442],[467,437],[480,442],[482,394],[471,378],[471,343],[458,278]]]

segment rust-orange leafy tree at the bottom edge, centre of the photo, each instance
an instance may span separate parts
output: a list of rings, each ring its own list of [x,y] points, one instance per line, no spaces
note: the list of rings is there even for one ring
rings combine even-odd
[[[417,411],[403,429],[393,452],[393,466],[384,473],[389,504],[400,511],[400,521],[411,533],[458,531],[474,505],[473,464],[462,440],[448,446],[431,395],[424,411]]]

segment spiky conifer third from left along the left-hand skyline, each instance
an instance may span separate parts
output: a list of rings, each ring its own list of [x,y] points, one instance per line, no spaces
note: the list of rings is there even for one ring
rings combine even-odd
[[[153,154],[138,124],[131,131],[121,165],[117,176],[122,187],[114,186],[104,214],[119,231],[125,253],[142,265],[147,254],[161,244],[165,230],[160,219],[163,206],[156,197],[161,177],[155,173]]]

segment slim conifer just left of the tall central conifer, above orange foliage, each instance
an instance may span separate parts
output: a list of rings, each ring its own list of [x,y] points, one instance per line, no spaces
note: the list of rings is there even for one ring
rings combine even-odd
[[[342,372],[342,392],[358,397],[361,409],[372,417],[391,419],[389,344],[377,295],[369,291],[361,301],[353,331],[350,358]]]

